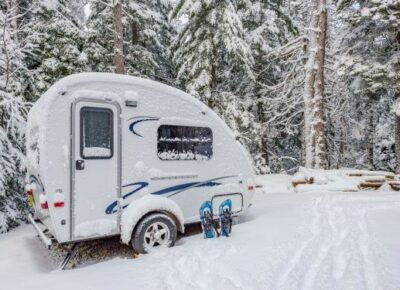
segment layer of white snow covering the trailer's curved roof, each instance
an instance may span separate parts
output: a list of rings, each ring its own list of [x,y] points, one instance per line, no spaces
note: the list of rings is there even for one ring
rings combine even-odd
[[[107,92],[106,95],[99,94],[99,91],[107,91],[105,87],[112,85],[113,92]],[[90,98],[109,99],[123,104],[126,100],[135,99],[138,95],[146,97],[151,101],[152,95],[162,94],[165,97],[173,96],[181,98],[185,103],[189,102],[202,112],[207,112],[208,116],[213,117],[213,121],[218,122],[220,126],[230,132],[232,138],[234,135],[229,127],[210,110],[205,104],[190,96],[189,94],[170,87],[168,85],[133,77],[127,75],[119,75],[112,73],[80,73],[65,77],[56,82],[50,89],[34,104],[28,116],[28,140],[37,140],[38,146],[45,148],[43,136],[45,136],[48,126],[57,126],[57,124],[49,122],[50,115],[58,115],[60,112],[53,110],[54,104],[64,103],[64,109],[69,110],[70,104],[77,97],[70,91],[82,91]],[[151,92],[151,94],[149,94]],[[143,94],[143,95],[142,95]],[[156,105],[156,104],[155,104]],[[66,127],[67,124],[60,124]],[[39,130],[40,128],[40,130]],[[37,134],[37,136],[32,136]],[[28,147],[32,144],[28,144]],[[246,153],[247,154],[247,153]],[[29,154],[28,154],[29,155]],[[35,160],[28,160],[29,165],[38,164]]]

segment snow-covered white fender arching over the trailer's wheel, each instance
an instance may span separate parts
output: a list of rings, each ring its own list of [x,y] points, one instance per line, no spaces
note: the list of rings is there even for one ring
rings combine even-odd
[[[129,244],[136,224],[148,213],[164,212],[176,222],[179,232],[185,231],[183,212],[173,200],[160,195],[145,195],[132,201],[121,215],[121,241]]]

